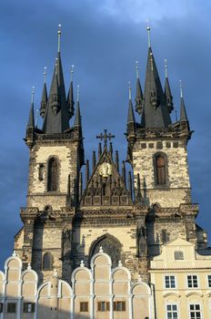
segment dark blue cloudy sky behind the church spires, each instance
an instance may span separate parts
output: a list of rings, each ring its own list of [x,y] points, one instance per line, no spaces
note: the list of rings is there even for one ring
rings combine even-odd
[[[25,206],[28,149],[23,138],[35,85],[39,108],[43,69],[51,82],[57,50],[57,25],[62,24],[62,60],[66,90],[69,69],[75,65],[76,85],[85,136],[85,156],[96,149],[96,133],[108,129],[116,135],[114,148],[126,158],[127,83],[135,98],[135,61],[139,61],[144,86],[146,70],[146,20],[150,20],[156,65],[164,83],[164,59],[175,107],[179,106],[181,79],[191,129],[189,171],[193,201],[199,202],[197,222],[210,227],[210,56],[209,0],[6,0],[0,10],[0,268],[13,249],[14,235],[22,223]],[[136,119],[139,120],[138,116]],[[174,116],[173,116],[173,119]],[[41,119],[38,119],[41,124]]]

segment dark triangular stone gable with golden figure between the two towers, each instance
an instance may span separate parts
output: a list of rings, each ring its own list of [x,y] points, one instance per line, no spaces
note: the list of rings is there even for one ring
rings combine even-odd
[[[82,206],[127,206],[133,203],[110,152],[105,148],[81,198]]]

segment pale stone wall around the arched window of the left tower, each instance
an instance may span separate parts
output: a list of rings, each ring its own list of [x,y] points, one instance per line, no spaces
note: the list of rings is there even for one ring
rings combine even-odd
[[[29,182],[27,206],[38,207],[40,211],[51,205],[53,210],[60,210],[66,205],[68,190],[68,175],[70,175],[70,194],[74,194],[75,179],[78,170],[77,142],[64,141],[62,145],[53,140],[45,145],[36,144],[30,149]],[[58,190],[47,191],[48,160],[58,160]],[[39,170],[42,165],[42,178]]]

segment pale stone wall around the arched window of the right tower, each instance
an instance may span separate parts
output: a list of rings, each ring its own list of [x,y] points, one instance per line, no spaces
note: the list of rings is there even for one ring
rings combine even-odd
[[[156,187],[153,159],[156,153],[166,154],[166,187]],[[133,149],[133,168],[140,174],[141,193],[146,204],[159,203],[162,207],[178,207],[190,202],[190,182],[187,152],[183,141],[137,140]]]

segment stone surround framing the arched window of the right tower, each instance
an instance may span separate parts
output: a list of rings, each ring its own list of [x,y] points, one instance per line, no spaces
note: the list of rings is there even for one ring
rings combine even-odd
[[[162,157],[165,160],[165,184],[158,184],[157,183],[157,159],[158,157]],[[168,159],[167,155],[163,151],[158,151],[153,155],[153,170],[154,170],[154,187],[156,189],[164,189],[169,188],[169,175],[168,175]]]

